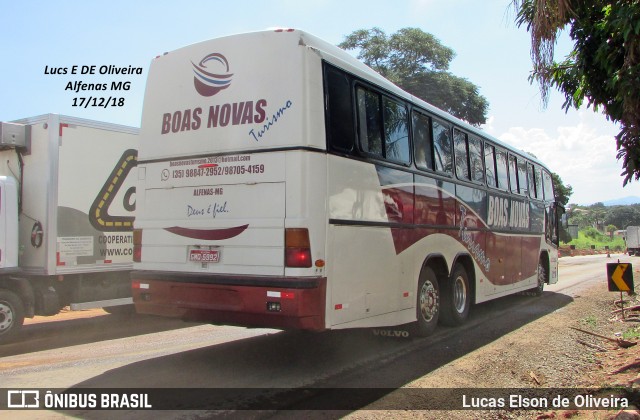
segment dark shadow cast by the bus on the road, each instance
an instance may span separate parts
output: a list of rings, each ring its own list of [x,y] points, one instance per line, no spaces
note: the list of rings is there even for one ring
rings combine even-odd
[[[368,330],[258,336],[132,363],[73,390],[127,388],[120,391],[149,394],[154,409],[197,410],[163,411],[169,418],[235,417],[236,410],[251,410],[242,411],[243,418],[300,417],[297,410],[311,410],[306,418],[340,418],[572,301],[552,292],[501,298],[474,307],[464,326],[423,339],[383,338]],[[117,413],[158,417],[155,410]],[[108,411],[65,414],[110,417]]]

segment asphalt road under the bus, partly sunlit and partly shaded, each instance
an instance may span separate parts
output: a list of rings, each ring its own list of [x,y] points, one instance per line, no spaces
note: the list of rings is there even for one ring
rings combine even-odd
[[[582,289],[605,281],[604,264],[618,258],[640,263],[622,255],[562,258],[561,280],[542,298],[512,296],[478,305],[464,326],[440,328],[427,339],[382,338],[368,330],[310,334],[195,325],[101,310],[37,318],[25,325],[18,342],[0,345],[1,388],[168,388],[168,400],[189,405],[196,398],[198,408],[119,411],[120,418],[229,416],[234,412],[217,410],[243,408],[262,410],[243,412],[250,417],[293,413],[281,408],[314,408],[318,416],[339,417],[571,304]],[[203,398],[176,391],[183,388],[216,391]],[[33,418],[34,413],[4,414]],[[61,416],[106,419],[113,412],[43,411],[37,417]]]

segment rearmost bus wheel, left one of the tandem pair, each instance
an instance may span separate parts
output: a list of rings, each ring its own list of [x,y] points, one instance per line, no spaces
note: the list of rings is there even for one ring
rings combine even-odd
[[[411,326],[411,334],[427,337],[438,326],[440,316],[440,287],[436,273],[430,267],[425,267],[418,281],[416,298],[417,320]]]

